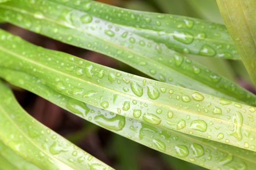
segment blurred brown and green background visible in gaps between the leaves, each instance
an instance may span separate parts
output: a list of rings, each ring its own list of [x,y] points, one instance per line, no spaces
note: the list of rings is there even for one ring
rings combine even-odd
[[[222,23],[215,0],[98,0],[103,3],[141,11],[167,13],[201,18]],[[10,24],[0,24],[13,34],[48,49],[64,51],[86,60],[145,76],[117,60],[92,51],[86,51],[34,34]],[[187,54],[186,54],[187,55]],[[188,55],[204,66],[255,92],[241,61]],[[147,76],[145,76],[147,77]],[[14,87],[15,88],[15,87]],[[20,104],[36,119],[53,129],[86,152],[118,170],[204,170],[194,164],[159,153],[122,136],[108,132],[90,122],[67,113],[58,106],[36,95],[15,88]]]

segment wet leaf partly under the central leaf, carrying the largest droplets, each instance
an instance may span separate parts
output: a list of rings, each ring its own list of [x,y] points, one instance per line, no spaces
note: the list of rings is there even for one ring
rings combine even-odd
[[[221,167],[221,170],[230,170],[238,167],[241,170],[254,170],[256,166],[255,152],[162,129],[147,122],[101,110],[61,95],[40,79],[23,72],[0,68],[0,76],[9,83],[27,89],[109,131],[207,169],[217,170]]]

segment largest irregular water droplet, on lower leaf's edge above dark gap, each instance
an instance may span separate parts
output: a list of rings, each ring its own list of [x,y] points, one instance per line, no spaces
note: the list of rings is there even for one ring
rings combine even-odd
[[[125,125],[125,117],[116,115],[114,118],[106,118],[103,115],[98,115],[94,120],[100,125],[107,129],[114,131],[120,131]]]

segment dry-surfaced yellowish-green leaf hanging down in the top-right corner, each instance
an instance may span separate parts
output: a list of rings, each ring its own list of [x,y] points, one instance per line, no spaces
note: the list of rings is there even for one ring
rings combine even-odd
[[[256,85],[256,1],[217,0],[228,31]]]

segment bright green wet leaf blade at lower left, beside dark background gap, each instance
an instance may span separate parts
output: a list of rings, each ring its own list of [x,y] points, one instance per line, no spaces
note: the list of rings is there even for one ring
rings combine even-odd
[[[29,116],[0,83],[0,140],[43,170],[111,168]]]

